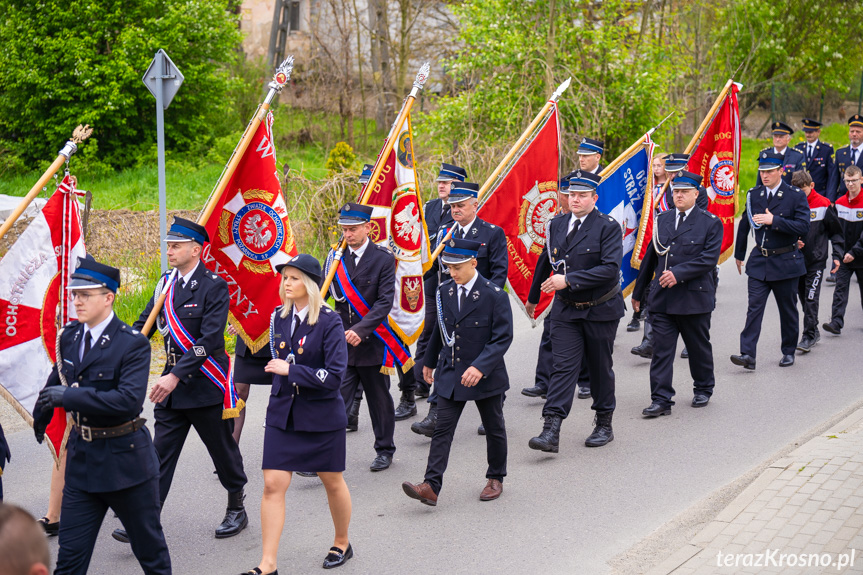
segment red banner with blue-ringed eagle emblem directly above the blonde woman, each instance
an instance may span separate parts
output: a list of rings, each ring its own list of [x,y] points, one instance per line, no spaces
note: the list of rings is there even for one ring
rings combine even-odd
[[[297,255],[272,127],[268,113],[212,215],[200,222],[210,236],[202,259],[228,282],[228,321],[253,352],[269,345],[270,314],[281,304],[276,266]]]

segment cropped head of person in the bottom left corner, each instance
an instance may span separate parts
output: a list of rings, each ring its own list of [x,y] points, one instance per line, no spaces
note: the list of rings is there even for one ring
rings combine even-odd
[[[0,575],[48,575],[51,551],[33,516],[0,502]]]

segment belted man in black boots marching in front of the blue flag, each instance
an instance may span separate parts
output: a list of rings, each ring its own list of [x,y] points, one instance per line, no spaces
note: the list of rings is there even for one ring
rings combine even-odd
[[[560,425],[572,409],[582,361],[590,373],[591,408],[596,412],[595,428],[584,443],[599,447],[614,439],[612,353],[624,314],[623,235],[614,218],[596,209],[599,181],[597,175],[576,171],[569,180],[572,214],[549,224],[548,255],[555,273],[542,290],[556,292],[551,309],[554,372],[542,409],[545,424],[528,443],[531,449],[557,453]]]

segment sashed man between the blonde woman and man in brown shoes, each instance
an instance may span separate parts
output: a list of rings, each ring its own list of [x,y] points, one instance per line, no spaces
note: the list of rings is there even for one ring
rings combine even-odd
[[[395,297],[395,256],[369,239],[371,206],[349,202],[339,212],[347,249],[330,286],[336,311],[342,318],[348,342],[348,369],[342,380],[342,397],[350,405],[362,384],[375,433],[377,456],[372,471],[383,471],[393,462],[396,445],[395,406],[388,375],[381,373],[385,353],[403,344],[393,334],[389,341],[377,335],[386,322]],[[328,259],[327,265],[331,264]]]

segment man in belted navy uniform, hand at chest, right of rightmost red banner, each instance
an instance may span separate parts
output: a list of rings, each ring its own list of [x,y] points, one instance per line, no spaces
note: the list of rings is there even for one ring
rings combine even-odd
[[[746,324],[740,333],[740,354],[731,356],[734,365],[750,370],[755,369],[755,349],[770,292],[779,307],[781,367],[794,365],[800,333],[797,286],[800,276],[806,274],[806,263],[797,240],[809,233],[809,205],[803,192],[783,180],[786,159],[770,151],[758,155],[758,179],[764,183],[747,193],[746,214],[740,219],[734,243],[737,271],[743,273],[746,242],[749,231],[753,231],[755,246],[746,261],[749,276]]]

